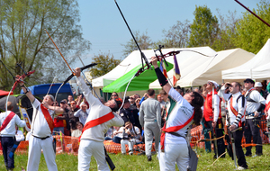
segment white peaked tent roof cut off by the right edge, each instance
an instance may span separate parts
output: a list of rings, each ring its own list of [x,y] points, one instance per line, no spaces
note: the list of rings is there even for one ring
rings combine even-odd
[[[259,71],[262,65],[266,64],[270,65],[269,54],[270,54],[270,39],[266,41],[265,46],[262,49],[260,49],[260,51],[254,58],[248,60],[246,63],[244,63],[239,67],[223,70],[222,78],[227,81],[227,80],[243,80],[246,78],[259,79],[266,77],[265,75],[269,73],[262,73],[257,71]],[[265,66],[265,68],[267,67]],[[254,70],[256,72],[254,72]]]

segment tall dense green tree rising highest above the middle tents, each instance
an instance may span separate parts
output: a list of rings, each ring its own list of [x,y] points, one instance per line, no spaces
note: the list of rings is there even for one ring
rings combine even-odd
[[[188,47],[211,47],[220,31],[217,17],[211,14],[211,10],[206,5],[196,5],[193,14],[195,18],[191,24]]]

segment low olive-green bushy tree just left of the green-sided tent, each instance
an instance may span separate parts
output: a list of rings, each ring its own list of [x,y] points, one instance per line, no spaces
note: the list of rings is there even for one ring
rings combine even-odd
[[[90,68],[90,73],[93,78],[107,74],[114,67],[120,64],[120,59],[114,59],[113,55],[112,57],[110,56],[110,52],[107,54],[101,52],[97,56],[94,55],[93,62],[97,63],[97,65]]]

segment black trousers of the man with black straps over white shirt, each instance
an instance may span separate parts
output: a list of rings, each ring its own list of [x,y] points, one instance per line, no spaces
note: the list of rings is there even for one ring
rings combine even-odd
[[[260,118],[257,118],[258,120]],[[256,119],[247,119],[246,120],[246,125],[245,125],[245,130],[244,130],[244,135],[246,138],[246,143],[251,144],[251,136],[253,137],[253,143],[254,144],[262,144],[262,138],[260,135],[260,127],[258,126],[259,121],[253,121]],[[251,148],[252,146],[247,147],[247,152],[246,155],[252,155],[251,153]],[[262,154],[263,153],[263,146],[256,146],[256,154]]]

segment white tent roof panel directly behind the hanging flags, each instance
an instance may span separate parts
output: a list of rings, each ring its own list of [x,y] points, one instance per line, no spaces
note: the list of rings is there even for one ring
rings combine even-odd
[[[196,49],[196,51],[211,57],[205,57],[199,53],[182,51],[179,55],[176,56],[181,77],[188,75],[190,72],[192,72],[197,67],[200,67],[201,65],[205,66],[209,64],[211,59],[214,58],[214,56],[217,54],[215,50],[209,47],[208,49]],[[183,61],[182,58],[187,59]],[[168,79],[170,80],[171,83],[173,83],[174,73],[175,73],[174,69],[170,70],[167,73]],[[178,85],[178,82],[176,83],[176,85]],[[156,80],[149,85],[149,88],[160,89],[161,86],[159,85],[158,80]]]

